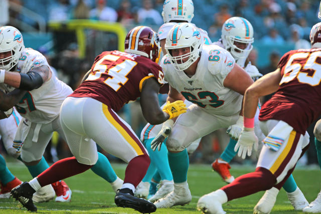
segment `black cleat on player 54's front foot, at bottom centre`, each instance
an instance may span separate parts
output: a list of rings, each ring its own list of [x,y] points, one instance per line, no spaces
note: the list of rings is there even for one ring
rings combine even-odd
[[[132,191],[126,191],[125,189],[118,189],[115,195],[115,203],[120,207],[133,208],[141,213],[150,213],[156,211],[156,206],[143,198],[135,197],[132,195]],[[128,192],[128,193],[127,193]]]

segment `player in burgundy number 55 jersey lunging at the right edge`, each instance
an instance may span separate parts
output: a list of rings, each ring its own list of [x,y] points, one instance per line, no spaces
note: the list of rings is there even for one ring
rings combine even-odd
[[[260,111],[260,127],[266,135],[256,170],[202,196],[197,204],[205,213],[225,213],[222,204],[258,191],[280,188],[308,147],[308,126],[321,113],[321,23],[312,27],[311,49],[289,51],[271,72],[245,92],[244,126],[239,137],[246,151],[257,142],[254,114],[260,96],[276,92]],[[257,211],[254,208],[254,213]]]

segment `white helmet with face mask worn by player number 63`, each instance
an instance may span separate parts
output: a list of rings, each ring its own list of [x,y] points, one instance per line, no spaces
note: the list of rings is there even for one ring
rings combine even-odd
[[[189,68],[200,57],[202,46],[200,30],[191,23],[176,24],[167,34],[165,43],[169,59],[177,71]],[[173,49],[186,47],[190,48],[190,53],[173,57]],[[188,58],[187,61],[182,63],[186,58]]]

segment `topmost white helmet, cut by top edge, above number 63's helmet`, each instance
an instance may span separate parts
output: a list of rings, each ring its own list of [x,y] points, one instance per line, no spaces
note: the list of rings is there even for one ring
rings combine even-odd
[[[194,17],[194,4],[192,0],[166,0],[162,16],[164,23],[172,20],[191,22]]]

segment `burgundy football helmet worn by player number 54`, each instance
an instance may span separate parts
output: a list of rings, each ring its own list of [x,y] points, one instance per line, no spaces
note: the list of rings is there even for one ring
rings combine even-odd
[[[161,45],[157,33],[146,26],[131,29],[125,39],[125,52],[141,55],[158,63]]]

